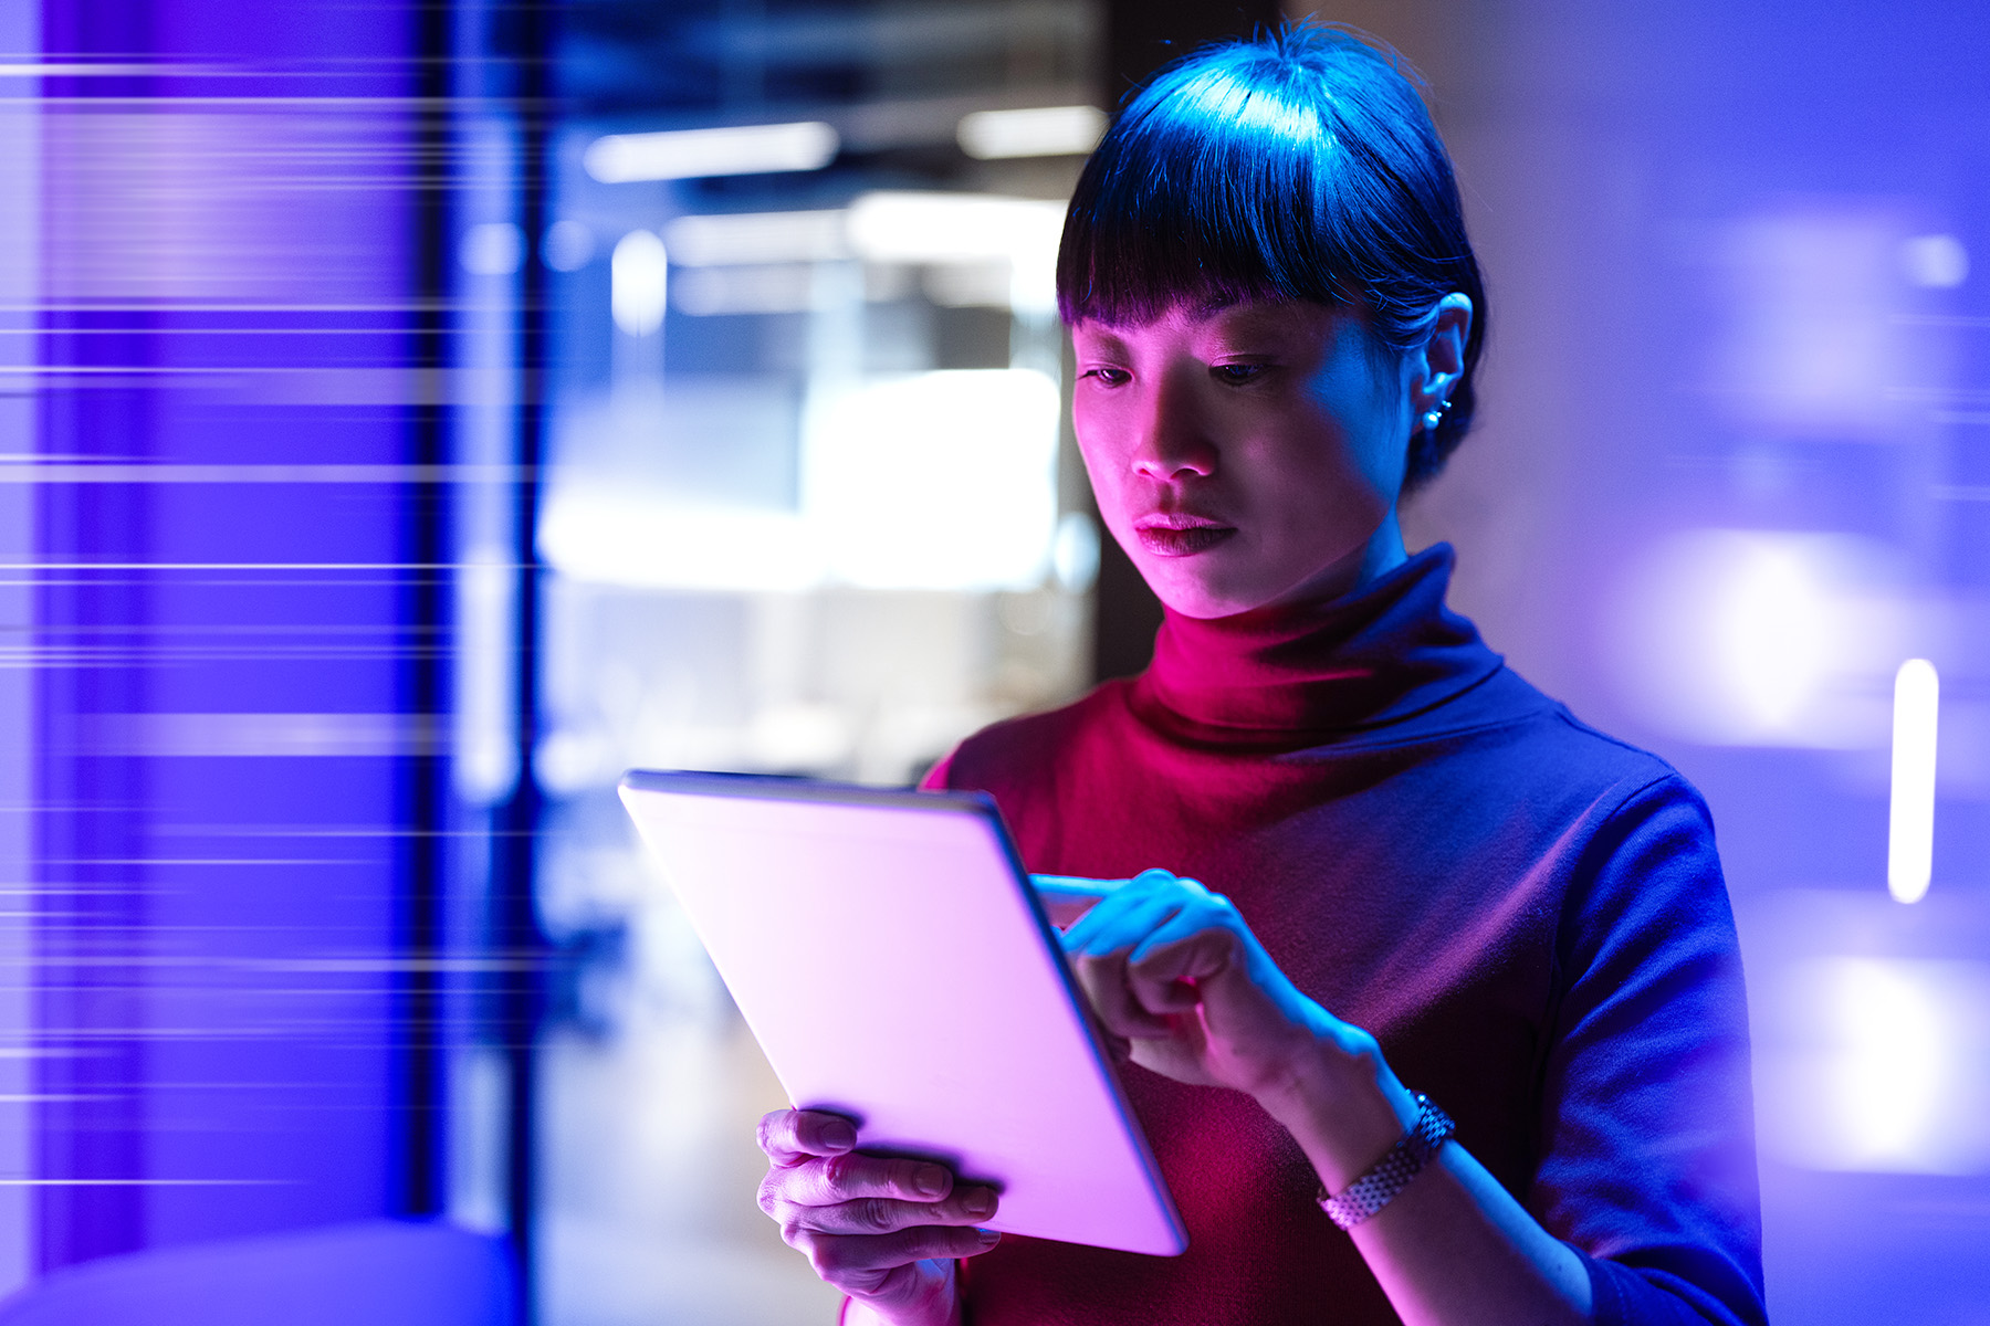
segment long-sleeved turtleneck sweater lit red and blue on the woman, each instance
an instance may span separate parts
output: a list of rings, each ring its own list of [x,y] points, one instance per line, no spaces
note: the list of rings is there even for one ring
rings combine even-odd
[[[987,728],[927,787],[1031,871],[1226,893],[1299,990],[1590,1270],[1596,1320],[1763,1322],[1747,1012],[1697,793],[1445,608],[1451,549],[1353,594],[1174,612],[1138,678]],[[1009,1237],[969,1326],[1367,1326],[1387,1298],[1250,1097],[1120,1070],[1178,1258]]]

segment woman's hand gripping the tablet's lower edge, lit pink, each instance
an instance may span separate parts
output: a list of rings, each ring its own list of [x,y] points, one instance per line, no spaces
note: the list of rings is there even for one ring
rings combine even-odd
[[[848,1119],[776,1109],[760,1119],[768,1171],[760,1209],[816,1274],[896,1326],[953,1326],[953,1258],[1001,1241],[975,1229],[995,1215],[995,1191],[955,1187],[945,1165],[856,1151]]]

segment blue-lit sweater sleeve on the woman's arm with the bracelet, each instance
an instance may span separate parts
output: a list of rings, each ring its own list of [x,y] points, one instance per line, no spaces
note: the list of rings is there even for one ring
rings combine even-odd
[[[1747,1002],[1705,805],[1634,791],[1556,940],[1528,1207],[1586,1258],[1598,1326],[1761,1326]]]

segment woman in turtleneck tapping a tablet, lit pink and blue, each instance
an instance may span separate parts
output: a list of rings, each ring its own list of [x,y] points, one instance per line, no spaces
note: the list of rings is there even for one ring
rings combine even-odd
[[[1146,674],[927,785],[991,791],[1035,871],[1130,877],[1065,946],[1190,1250],[993,1246],[993,1193],[824,1113],[762,1121],[762,1207],[848,1322],[1761,1322],[1705,807],[1403,549],[1485,334],[1415,89],[1313,28],[1196,52],[1087,165],[1059,296],[1166,622]]]

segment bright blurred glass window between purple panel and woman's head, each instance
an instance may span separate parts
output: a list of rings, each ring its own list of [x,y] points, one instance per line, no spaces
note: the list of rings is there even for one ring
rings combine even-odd
[[[615,779],[909,783],[1089,682],[1063,207],[1098,12],[565,10],[535,775],[551,1322],[830,1320],[754,1209],[784,1103]],[[466,245],[501,266],[498,233]]]

